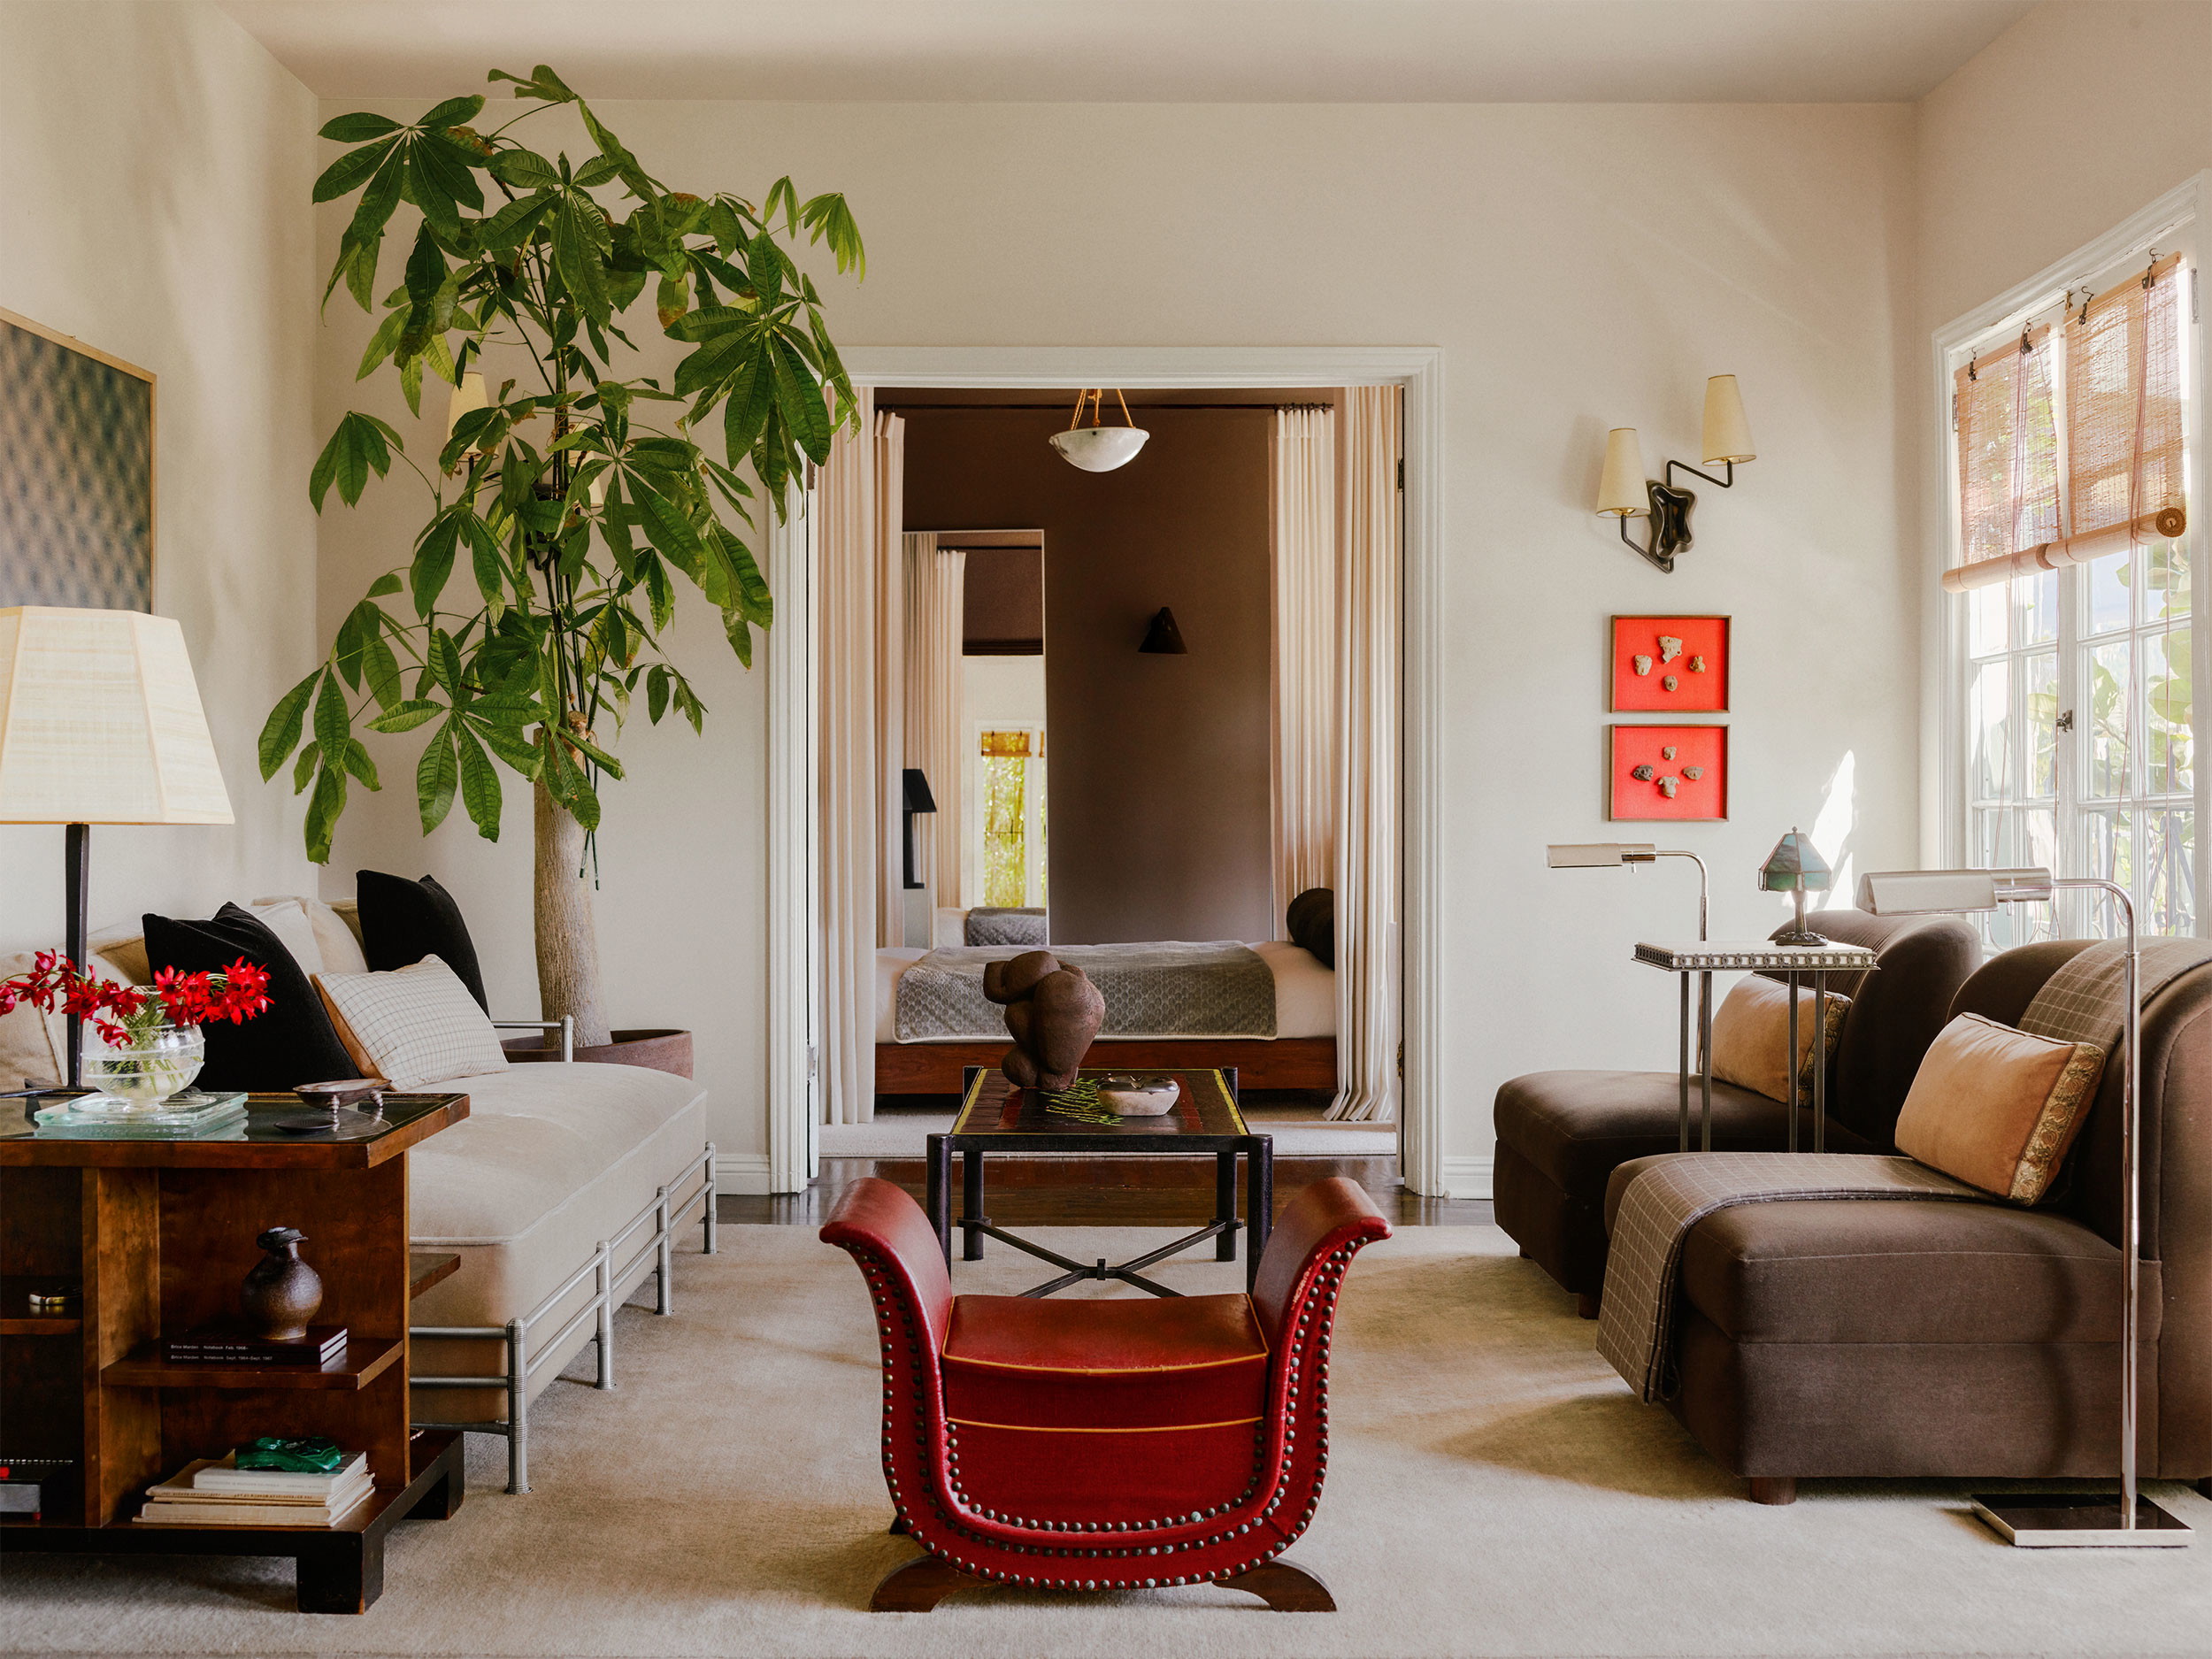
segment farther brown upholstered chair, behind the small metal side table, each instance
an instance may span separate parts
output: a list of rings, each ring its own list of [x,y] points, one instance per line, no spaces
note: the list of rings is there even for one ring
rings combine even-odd
[[[1905,1091],[1982,945],[1953,916],[1827,909],[1812,922],[1832,940],[1869,947],[1880,962],[1874,973],[1829,980],[1851,1009],[1829,1062],[1827,1150],[1889,1152]],[[1670,993],[1652,980],[1655,995]],[[1690,1110],[1699,1113],[1694,1088]],[[1498,1091],[1498,1225],[1575,1292],[1584,1316],[1597,1314],[1606,1283],[1606,1181],[1628,1159],[1677,1150],[1679,1117],[1672,1071],[1537,1071]],[[1783,1102],[1714,1082],[1714,1150],[1781,1150],[1787,1141]],[[1798,1108],[1798,1144],[1812,1146],[1809,1106]]]

